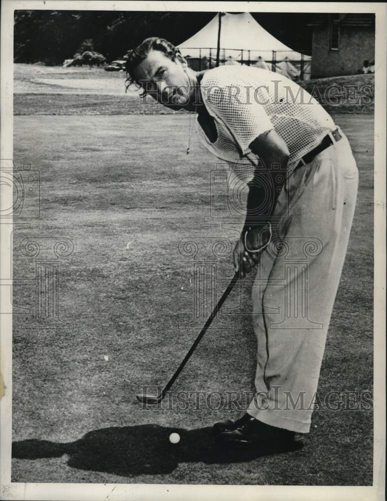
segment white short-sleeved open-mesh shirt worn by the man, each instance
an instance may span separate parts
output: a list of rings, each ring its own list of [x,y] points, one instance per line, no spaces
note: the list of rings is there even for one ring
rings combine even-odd
[[[198,124],[201,140],[246,182],[253,177],[257,163],[249,144],[263,132],[275,129],[285,141],[290,174],[335,128],[310,94],[278,73],[249,66],[220,66],[204,74],[200,87],[218,133],[212,143]]]

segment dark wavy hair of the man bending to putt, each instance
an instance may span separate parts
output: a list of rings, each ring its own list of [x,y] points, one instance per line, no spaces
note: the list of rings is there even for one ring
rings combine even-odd
[[[132,84],[134,84],[138,89],[141,88],[141,85],[136,82],[133,72],[152,50],[164,52],[164,54],[172,61],[174,61],[177,54],[181,55],[179,49],[164,38],[146,38],[138,47],[136,47],[136,49],[129,51],[126,56],[126,90],[128,90]],[[145,95],[146,90],[144,90],[141,96]]]

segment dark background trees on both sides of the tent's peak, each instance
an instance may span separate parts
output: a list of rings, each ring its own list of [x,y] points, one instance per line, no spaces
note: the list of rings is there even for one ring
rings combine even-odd
[[[148,37],[175,45],[206,25],[216,12],[15,11],[15,62],[62,64],[75,53],[98,52],[121,59]],[[253,13],[273,36],[310,54],[312,14]]]

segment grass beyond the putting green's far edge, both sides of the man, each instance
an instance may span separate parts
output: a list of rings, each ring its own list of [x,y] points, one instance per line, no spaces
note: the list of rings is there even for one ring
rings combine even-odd
[[[374,75],[350,75],[300,82],[329,113],[373,114]],[[125,93],[125,73],[103,68],[14,65],[15,115],[182,114],[134,86]],[[64,99],[64,95],[66,98]]]

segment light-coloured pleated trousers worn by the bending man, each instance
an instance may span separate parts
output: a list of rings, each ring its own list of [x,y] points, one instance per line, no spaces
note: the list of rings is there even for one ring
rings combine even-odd
[[[356,203],[356,162],[342,136],[289,176],[252,288],[257,393],[247,412],[299,433],[310,429]]]

